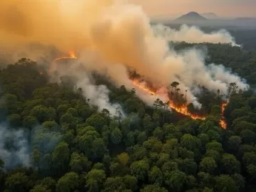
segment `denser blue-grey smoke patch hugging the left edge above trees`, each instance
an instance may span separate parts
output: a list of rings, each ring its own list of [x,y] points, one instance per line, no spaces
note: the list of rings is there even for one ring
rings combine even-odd
[[[0,124],[0,159],[6,168],[31,166],[28,134],[23,129],[13,129],[6,123]]]

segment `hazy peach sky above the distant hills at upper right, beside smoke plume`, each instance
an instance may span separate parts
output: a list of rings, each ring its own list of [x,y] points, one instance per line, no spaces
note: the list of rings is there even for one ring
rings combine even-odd
[[[141,5],[149,16],[179,16],[189,11],[218,16],[256,17],[256,0],[127,0]]]

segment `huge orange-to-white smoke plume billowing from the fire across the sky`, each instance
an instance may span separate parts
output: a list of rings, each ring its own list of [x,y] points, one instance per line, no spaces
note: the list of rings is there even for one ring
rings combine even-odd
[[[179,31],[167,30],[163,26],[152,29],[142,7],[114,0],[11,2],[0,3],[0,41],[10,50],[17,43],[34,41],[53,44],[66,52],[82,50],[78,61],[86,70],[107,74],[117,85],[128,88],[133,85],[127,76],[127,67],[134,68],[157,87],[166,87],[177,81],[181,92],[187,90],[187,100],[197,106],[200,104],[194,87],[198,84],[210,90],[220,89],[223,94],[233,81],[240,89],[249,87],[245,80],[221,66],[212,64],[207,67],[205,54],[201,51],[190,49],[176,53],[168,45],[170,40],[235,45],[227,31],[205,34],[196,27],[187,26],[182,26]],[[14,18],[19,19],[18,25]],[[80,71],[73,68],[65,69],[65,73],[80,76]],[[87,78],[81,77],[79,82],[80,86],[87,85],[83,89],[87,92],[85,95],[101,95],[98,97],[101,102],[96,99],[95,103],[108,105],[105,88],[90,86]],[[139,97],[151,100],[142,94]],[[166,94],[160,97],[166,97]]]

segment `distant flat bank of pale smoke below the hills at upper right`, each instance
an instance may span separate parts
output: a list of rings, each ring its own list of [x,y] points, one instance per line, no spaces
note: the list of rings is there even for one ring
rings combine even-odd
[[[164,38],[166,41],[187,43],[231,43],[232,46],[238,46],[235,39],[226,31],[213,31],[212,33],[204,33],[196,26],[182,25],[179,30],[169,28],[162,24],[153,26],[153,31],[156,37]]]

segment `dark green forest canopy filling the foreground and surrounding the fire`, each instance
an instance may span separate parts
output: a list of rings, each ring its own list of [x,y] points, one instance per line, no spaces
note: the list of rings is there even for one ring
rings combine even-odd
[[[188,46],[193,45],[181,43],[176,49]],[[209,63],[223,63],[256,84],[255,51],[204,46]],[[157,102],[146,107],[134,90],[96,76],[97,83],[108,84],[111,102],[119,102],[128,114],[122,119],[118,109],[115,117],[107,110],[97,112],[82,90],[73,91],[70,79],[48,83],[44,74],[26,59],[0,71],[1,121],[10,132],[27,133],[31,154],[30,168],[4,169],[10,162],[0,161],[0,191],[255,191],[252,90],[233,93],[225,110],[228,129],[223,130],[220,107],[208,94],[201,96],[210,104],[208,118],[192,120]],[[14,148],[11,142],[4,145]]]

